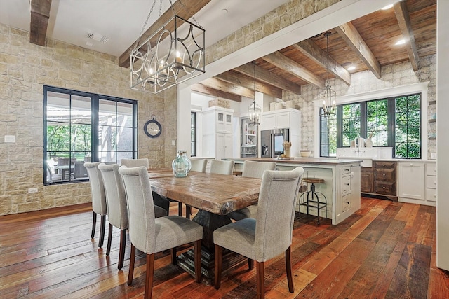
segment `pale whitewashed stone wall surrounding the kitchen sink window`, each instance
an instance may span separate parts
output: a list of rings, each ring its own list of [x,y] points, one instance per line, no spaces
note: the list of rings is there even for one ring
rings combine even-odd
[[[427,89],[427,100],[436,100],[436,55],[429,55],[420,59],[418,71],[413,71],[410,62],[400,62],[382,67],[382,78],[377,79],[371,71],[361,71],[351,74],[351,85],[348,86],[340,79],[331,79],[329,81],[337,97],[347,95],[357,95],[363,92],[372,92],[385,88],[394,88],[413,83],[429,82]],[[315,136],[314,125],[316,121],[314,100],[317,99],[321,89],[314,85],[303,85],[301,95],[295,95],[292,92],[283,92],[283,101],[294,100],[295,105],[300,106],[302,116],[302,148],[308,148],[313,151],[314,143],[319,142],[319,136]],[[337,103],[338,104],[338,103]],[[427,103],[422,103],[426,105]],[[429,105],[427,118],[431,113],[436,113],[436,105]],[[428,124],[428,134],[436,134],[436,123]],[[424,149],[424,148],[423,148]],[[430,153],[436,153],[436,140],[428,141],[428,157]],[[315,157],[319,153],[314,153]]]

